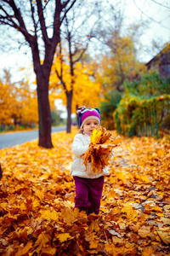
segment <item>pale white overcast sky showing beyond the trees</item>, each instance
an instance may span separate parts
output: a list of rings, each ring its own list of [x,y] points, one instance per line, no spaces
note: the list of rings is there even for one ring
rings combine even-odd
[[[144,54],[142,58],[145,62],[150,61],[155,55],[150,50],[153,39],[156,39],[160,44],[170,43],[170,0],[122,0],[122,6],[125,7],[127,23],[140,19],[150,20],[150,28],[142,37],[143,44],[150,51],[149,54]],[[25,71],[19,72],[21,67],[25,67]],[[29,76],[29,74],[33,73],[31,55],[23,54],[22,51],[14,54],[1,52],[0,78],[3,75],[4,68],[8,69],[10,73],[13,73],[14,81]],[[31,77],[35,79],[34,76]],[[62,108],[62,104],[60,106]]]

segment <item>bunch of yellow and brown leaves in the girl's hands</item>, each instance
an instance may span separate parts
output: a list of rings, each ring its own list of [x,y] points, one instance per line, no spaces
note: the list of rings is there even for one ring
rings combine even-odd
[[[87,163],[90,162],[94,172],[102,172],[103,168],[109,165],[112,149],[119,146],[121,142],[120,136],[113,138],[111,132],[98,126],[90,136],[88,150],[82,154],[84,165],[87,166]]]

